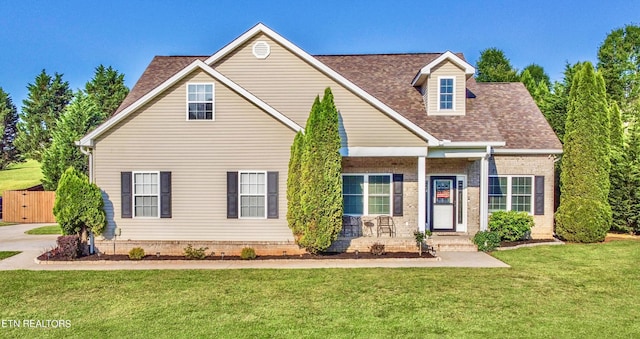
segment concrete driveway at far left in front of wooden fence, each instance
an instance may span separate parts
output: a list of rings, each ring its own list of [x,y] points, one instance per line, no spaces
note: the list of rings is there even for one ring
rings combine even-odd
[[[0,260],[0,270],[33,269],[34,258],[56,246],[57,235],[29,235],[24,232],[51,225],[18,224],[0,226],[0,251],[22,251],[11,258]]]

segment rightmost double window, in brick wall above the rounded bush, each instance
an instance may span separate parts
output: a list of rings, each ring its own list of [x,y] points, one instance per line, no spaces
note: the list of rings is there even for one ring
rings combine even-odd
[[[533,213],[532,176],[490,176],[489,212],[518,211]]]

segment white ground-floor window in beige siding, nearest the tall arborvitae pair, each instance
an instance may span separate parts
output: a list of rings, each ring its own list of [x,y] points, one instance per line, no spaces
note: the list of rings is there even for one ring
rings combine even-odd
[[[240,172],[240,217],[266,218],[267,173]]]

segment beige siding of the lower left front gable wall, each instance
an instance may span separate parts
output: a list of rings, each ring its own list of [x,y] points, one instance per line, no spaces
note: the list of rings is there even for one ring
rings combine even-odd
[[[186,84],[214,83],[215,121],[186,119]],[[202,71],[96,141],[95,180],[119,240],[293,241],[286,182],[294,132]],[[172,218],[121,219],[120,172],[171,171]],[[227,219],[227,171],[278,171],[278,219]]]

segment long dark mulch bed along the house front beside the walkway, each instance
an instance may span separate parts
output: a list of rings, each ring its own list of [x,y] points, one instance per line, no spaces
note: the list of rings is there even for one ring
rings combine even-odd
[[[435,258],[431,253],[422,253],[422,256],[418,255],[418,252],[387,252],[383,255],[374,255],[369,252],[360,252],[356,256],[355,253],[320,253],[320,254],[301,254],[301,255],[259,255],[253,260],[286,260],[286,259],[306,259],[306,260],[326,260],[326,259],[389,259],[389,258]],[[51,256],[47,257],[47,253],[43,253],[38,257],[38,260],[41,261],[69,261],[66,258],[60,256]],[[97,261],[97,260],[106,260],[106,261],[139,261],[139,260],[131,260],[129,256],[126,254],[92,254],[80,258],[73,259],[72,261]],[[182,255],[146,255],[142,259],[145,260],[188,260],[194,261],[196,259],[187,259]],[[240,256],[231,256],[225,255],[224,258],[220,255],[215,256],[207,256],[202,260],[243,260]]]

